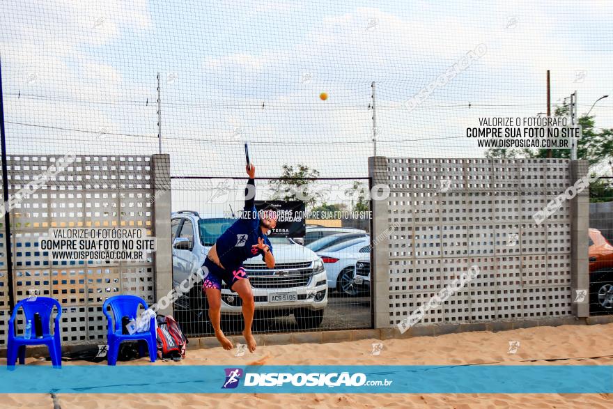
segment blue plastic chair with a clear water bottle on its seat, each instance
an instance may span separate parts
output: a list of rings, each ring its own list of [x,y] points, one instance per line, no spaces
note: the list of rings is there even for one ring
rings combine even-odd
[[[57,316],[54,319],[54,330],[51,334],[51,316],[53,314],[53,308],[57,308]],[[17,317],[17,311],[19,309],[24,310],[24,319],[27,323],[28,320],[32,321],[32,335],[30,339],[25,339],[23,336],[17,337],[15,335],[15,318]],[[34,325],[34,314],[40,314],[42,321],[42,338],[36,338],[36,329]],[[7,339],[7,351],[6,351],[6,365],[8,369],[15,369],[15,361],[19,356],[19,362],[21,365],[26,361],[26,346],[28,345],[46,345],[49,348],[49,355],[51,355],[51,361],[54,368],[61,368],[62,366],[62,346],[60,339],[60,316],[62,315],[62,307],[59,302],[53,298],[37,297],[26,298],[21,300],[15,305],[13,314],[8,320],[8,339]]]

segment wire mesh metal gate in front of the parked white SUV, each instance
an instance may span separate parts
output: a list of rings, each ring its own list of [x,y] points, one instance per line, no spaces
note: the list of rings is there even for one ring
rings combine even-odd
[[[173,249],[173,276],[180,281],[185,263],[203,261],[203,254],[240,213],[247,178],[174,177],[172,181],[173,240],[188,238],[189,248]],[[260,257],[249,258],[245,268],[256,302],[254,332],[347,330],[372,327],[370,270],[370,219],[366,197],[368,180],[303,180],[304,195],[288,193],[291,184],[281,178],[256,179],[256,199],[302,199],[307,202],[306,235],[272,238],[276,259],[273,269]],[[288,187],[288,189],[286,189]],[[275,192],[282,192],[275,196]],[[361,209],[363,217],[352,210]],[[309,213],[310,212],[310,213]],[[355,277],[355,266],[363,266]],[[182,265],[183,263],[183,265]],[[276,302],[289,297],[289,301]],[[222,329],[243,330],[238,294],[222,286]],[[201,285],[177,300],[175,314],[190,336],[212,334]]]

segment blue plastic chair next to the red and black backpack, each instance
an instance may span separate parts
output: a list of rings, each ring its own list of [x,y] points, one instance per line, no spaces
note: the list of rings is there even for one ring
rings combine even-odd
[[[109,314],[108,306],[111,306],[114,317]],[[149,357],[151,362],[155,362],[157,357],[157,341],[155,337],[155,318],[152,317],[149,323],[148,332],[135,332],[134,334],[123,334],[121,327],[121,318],[124,316],[130,316],[136,319],[139,312],[139,305],[142,305],[145,309],[148,309],[148,305],[140,297],[136,295],[116,295],[108,298],[102,304],[102,311],[109,320],[109,332],[107,334],[107,343],[109,344],[109,350],[107,351],[107,361],[109,365],[115,365],[117,363],[117,355],[119,354],[119,345],[122,341],[146,341],[149,350]],[[113,324],[114,322],[114,324]],[[141,357],[144,355],[142,345],[139,344],[139,353]]]

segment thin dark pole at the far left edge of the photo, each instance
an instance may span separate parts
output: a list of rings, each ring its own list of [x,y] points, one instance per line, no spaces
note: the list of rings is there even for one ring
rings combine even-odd
[[[8,166],[6,164],[6,133],[4,130],[4,98],[2,95],[2,65],[0,62],[0,145],[2,147],[2,199],[4,210],[4,252],[6,254],[6,279],[8,281],[8,314],[13,314],[15,294],[13,293],[13,246],[10,244],[10,208],[8,202]],[[13,328],[10,328],[13,331]]]

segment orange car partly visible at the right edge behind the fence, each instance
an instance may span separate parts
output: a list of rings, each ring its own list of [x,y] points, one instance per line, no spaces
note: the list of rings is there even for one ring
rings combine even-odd
[[[597,229],[589,229],[589,306],[613,312],[613,246]]]

